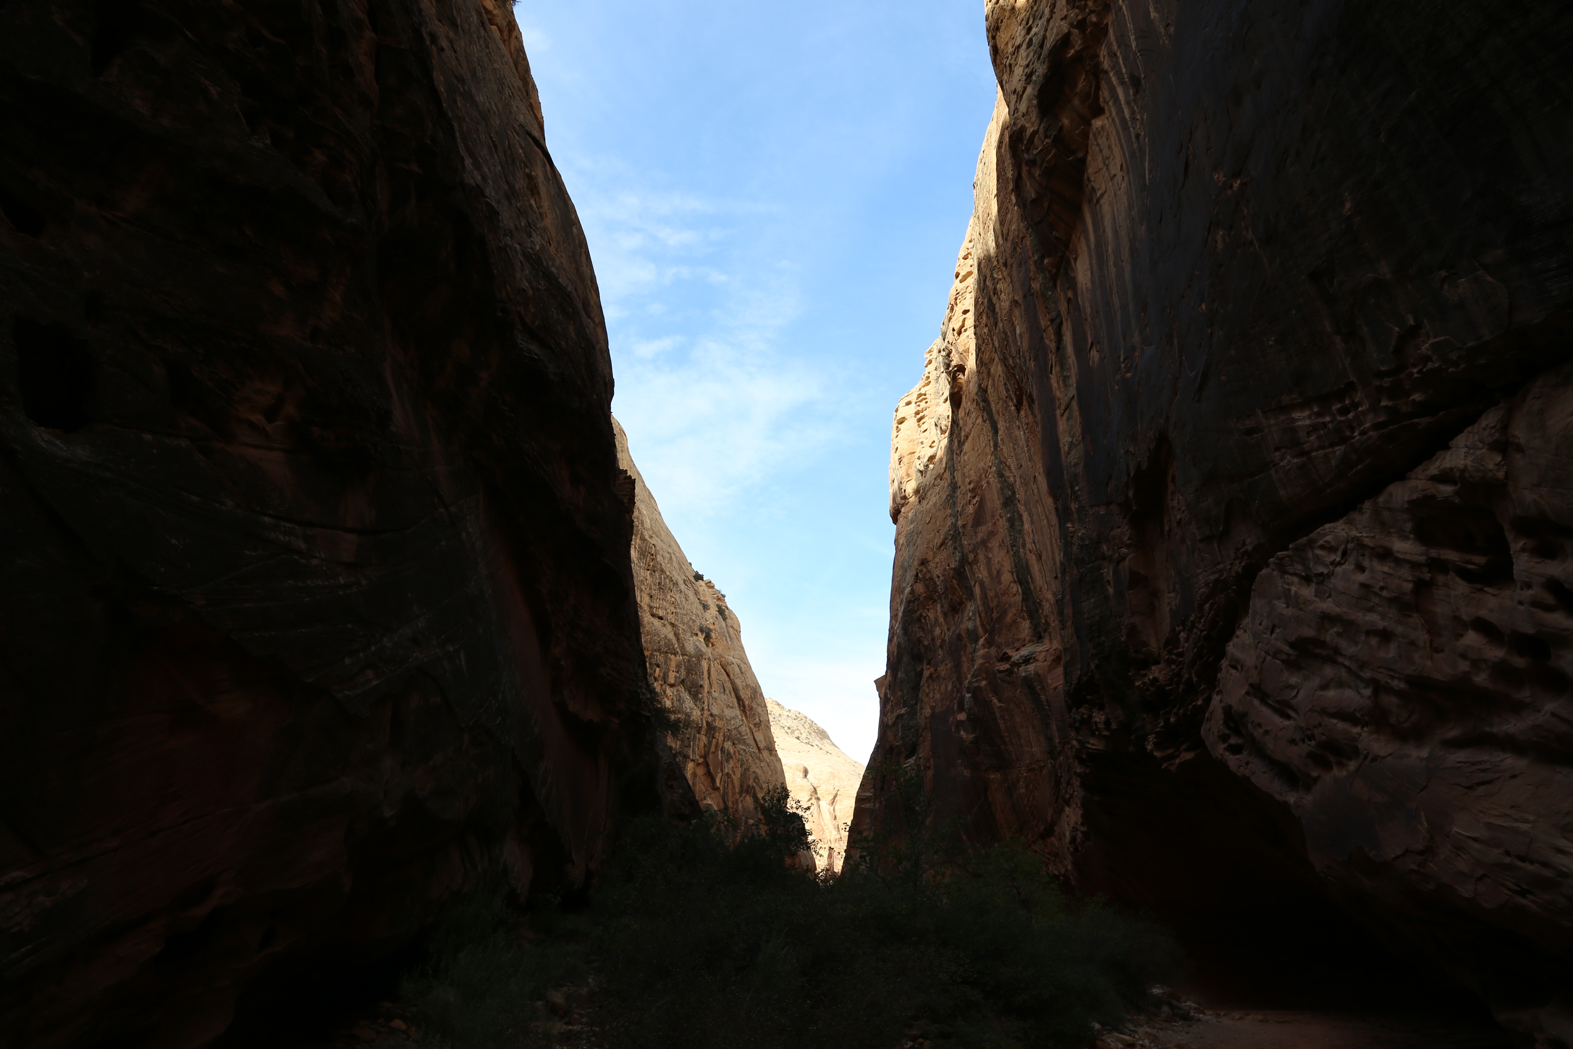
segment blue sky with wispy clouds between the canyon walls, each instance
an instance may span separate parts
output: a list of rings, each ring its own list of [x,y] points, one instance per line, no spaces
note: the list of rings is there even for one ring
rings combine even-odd
[[[978,0],[522,0],[613,412],[766,695],[873,747],[890,412],[994,104]]]

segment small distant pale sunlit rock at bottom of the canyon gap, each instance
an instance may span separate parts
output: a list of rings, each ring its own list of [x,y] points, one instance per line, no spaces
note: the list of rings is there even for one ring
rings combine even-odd
[[[786,772],[791,799],[807,808],[804,823],[813,838],[813,863],[820,871],[842,873],[846,829],[853,823],[864,766],[835,745],[831,733],[801,711],[764,700],[775,733],[775,752]]]

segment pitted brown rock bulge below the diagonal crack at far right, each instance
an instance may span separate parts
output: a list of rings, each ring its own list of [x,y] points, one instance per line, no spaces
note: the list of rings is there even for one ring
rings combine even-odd
[[[1318,873],[1405,915],[1425,951],[1491,951],[1480,926],[1565,950],[1570,538],[1564,366],[1268,561],[1229,643],[1208,749],[1287,802]],[[1513,969],[1537,961],[1499,967],[1524,981]],[[1513,1005],[1502,1019],[1534,1033]],[[1540,1019],[1573,1038],[1556,1013]]]

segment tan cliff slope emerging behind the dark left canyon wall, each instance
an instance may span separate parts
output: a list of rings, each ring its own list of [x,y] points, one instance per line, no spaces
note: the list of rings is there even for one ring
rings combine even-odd
[[[742,651],[727,594],[694,571],[617,431],[618,464],[634,481],[634,590],[650,686],[675,722],[667,745],[702,808],[739,826],[758,818],[758,796],[780,786],[764,692]]]

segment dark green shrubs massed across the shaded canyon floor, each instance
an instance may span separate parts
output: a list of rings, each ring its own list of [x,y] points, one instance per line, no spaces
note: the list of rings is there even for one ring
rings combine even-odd
[[[785,791],[741,835],[637,821],[584,912],[540,911],[519,947],[499,911],[459,909],[406,994],[455,1049],[522,1038],[547,986],[585,978],[595,1044],[617,1049],[890,1049],[914,1027],[1081,1049],[1173,975],[1164,933],[1066,898],[1022,845],[936,840],[876,841],[829,881],[788,863],[807,835]]]

